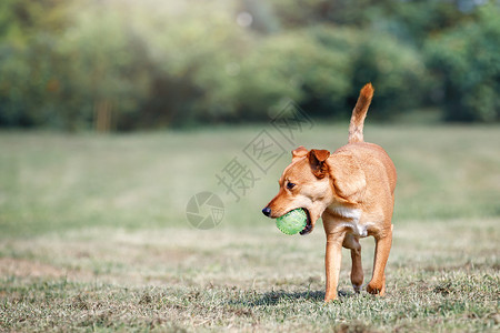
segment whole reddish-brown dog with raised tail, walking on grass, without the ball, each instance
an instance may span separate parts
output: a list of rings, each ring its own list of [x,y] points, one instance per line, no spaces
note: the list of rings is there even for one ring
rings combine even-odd
[[[386,263],[392,243],[396,168],[386,151],[363,142],[363,122],[373,97],[366,84],[352,111],[349,144],[330,154],[327,150],[299,147],[280,178],[278,195],[262,213],[278,218],[302,208],[308,215],[307,234],[323,219],[327,233],[327,292],[324,301],[337,299],[342,246],[351,250],[351,282],[356,292],[363,283],[360,238],[372,235],[377,246],[373,276],[367,291],[383,295]]]

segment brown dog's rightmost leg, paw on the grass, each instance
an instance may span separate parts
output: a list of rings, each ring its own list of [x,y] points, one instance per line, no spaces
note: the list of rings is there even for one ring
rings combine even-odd
[[[376,254],[373,259],[373,276],[367,285],[370,294],[383,295],[386,293],[386,264],[392,244],[392,225],[383,236],[376,236]]]

